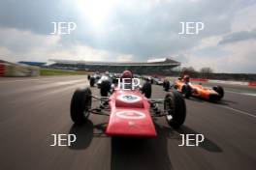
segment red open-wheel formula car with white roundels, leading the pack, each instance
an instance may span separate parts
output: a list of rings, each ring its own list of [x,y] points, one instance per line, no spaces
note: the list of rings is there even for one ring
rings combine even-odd
[[[109,83],[103,83],[101,88]],[[173,128],[180,127],[186,116],[185,101],[174,91],[165,99],[148,99],[151,95],[151,85],[145,83],[142,88],[121,90],[114,87],[110,97],[94,97],[89,88],[78,89],[71,101],[71,119],[75,124],[86,122],[90,114],[110,116],[106,133],[110,136],[140,136],[154,137],[157,135],[152,117],[166,117]],[[150,89],[149,89],[150,87]],[[99,99],[98,107],[91,108],[92,98]],[[158,104],[164,104],[164,109]]]

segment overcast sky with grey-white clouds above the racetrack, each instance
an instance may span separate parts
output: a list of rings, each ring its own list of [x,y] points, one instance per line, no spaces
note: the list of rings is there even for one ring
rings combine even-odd
[[[146,61],[256,73],[256,0],[1,0],[0,59]],[[51,35],[51,22],[75,22]],[[179,22],[204,22],[181,35]]]

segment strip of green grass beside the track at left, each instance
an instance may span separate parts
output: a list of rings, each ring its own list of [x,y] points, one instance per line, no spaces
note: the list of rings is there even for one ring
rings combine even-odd
[[[63,70],[52,70],[52,69],[41,69],[41,75],[85,75],[86,71],[63,71]]]

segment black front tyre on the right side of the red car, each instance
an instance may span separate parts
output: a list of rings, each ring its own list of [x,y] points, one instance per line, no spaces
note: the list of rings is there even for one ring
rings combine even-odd
[[[167,111],[167,123],[173,128],[179,128],[186,118],[186,104],[182,95],[173,91],[166,95],[164,109]]]

